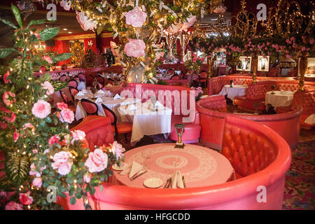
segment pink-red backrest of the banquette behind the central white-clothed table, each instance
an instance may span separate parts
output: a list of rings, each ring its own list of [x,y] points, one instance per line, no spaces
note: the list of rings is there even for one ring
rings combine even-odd
[[[121,95],[127,94],[129,90],[132,92],[133,96],[135,98],[141,98],[141,102],[146,102],[148,99],[150,99],[150,96],[153,95],[157,97],[156,99],[162,103],[164,106],[168,106],[169,104],[172,105],[172,114],[177,111],[179,111],[180,114],[176,115],[183,115],[186,116],[185,113],[183,113],[182,110],[182,104],[186,104],[182,101],[182,99],[187,99],[187,105],[184,105],[185,108],[190,109],[190,88],[186,86],[176,86],[176,85],[156,85],[156,84],[148,84],[148,83],[128,83],[127,87],[124,86],[123,90],[120,92]],[[167,94],[167,97],[163,97],[162,102],[162,96],[163,94]],[[187,97],[186,97],[187,96]],[[129,96],[130,97],[130,96]],[[175,100],[176,97],[176,100]],[[172,100],[172,102],[169,102],[169,99]],[[192,102],[195,106],[195,97]]]

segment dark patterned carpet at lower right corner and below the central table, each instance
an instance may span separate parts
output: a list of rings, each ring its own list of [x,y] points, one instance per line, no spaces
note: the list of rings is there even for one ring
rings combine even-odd
[[[130,140],[130,136],[129,140]],[[125,143],[120,135],[119,142],[126,150],[145,146],[174,142],[165,139],[162,134],[145,136],[135,146]],[[315,209],[315,130],[301,130],[297,148],[292,150],[292,163],[286,173],[286,185],[283,195],[284,210],[314,210]]]

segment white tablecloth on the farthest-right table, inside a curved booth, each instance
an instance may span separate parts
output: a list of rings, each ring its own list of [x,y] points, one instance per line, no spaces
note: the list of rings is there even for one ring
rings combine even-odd
[[[290,106],[293,100],[293,93],[290,91],[274,91],[274,94],[271,94],[272,91],[266,93],[265,104],[271,104],[274,109],[278,106]]]

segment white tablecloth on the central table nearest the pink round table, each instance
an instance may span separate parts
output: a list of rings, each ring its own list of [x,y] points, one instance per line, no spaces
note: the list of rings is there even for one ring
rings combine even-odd
[[[172,109],[158,106],[158,111],[151,111],[150,102],[138,103],[137,110],[129,111],[126,106],[120,106],[118,111],[123,121],[133,123],[131,142],[135,143],[144,135],[168,134],[171,132]]]

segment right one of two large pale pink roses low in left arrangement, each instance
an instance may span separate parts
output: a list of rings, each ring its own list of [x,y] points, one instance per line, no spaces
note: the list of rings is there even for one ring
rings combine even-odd
[[[84,165],[89,168],[90,173],[102,172],[107,167],[107,161],[109,160],[106,153],[99,148],[94,152],[89,153],[89,157],[85,161]]]

